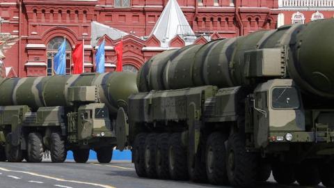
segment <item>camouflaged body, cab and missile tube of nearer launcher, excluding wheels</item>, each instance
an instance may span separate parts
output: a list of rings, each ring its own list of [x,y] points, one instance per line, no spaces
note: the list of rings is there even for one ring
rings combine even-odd
[[[241,129],[263,156],[334,155],[333,32],[334,19],[321,19],[152,57],[129,97],[129,142],[182,132],[191,158],[202,131]]]

